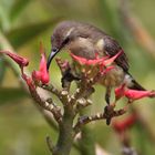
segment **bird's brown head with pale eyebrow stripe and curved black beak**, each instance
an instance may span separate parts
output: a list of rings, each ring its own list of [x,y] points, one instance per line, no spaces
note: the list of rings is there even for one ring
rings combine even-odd
[[[59,23],[52,34],[51,43],[52,50],[48,58],[46,68],[49,70],[52,59],[61,51],[64,46],[69,45],[71,41],[78,38],[78,24],[71,21],[64,21]]]

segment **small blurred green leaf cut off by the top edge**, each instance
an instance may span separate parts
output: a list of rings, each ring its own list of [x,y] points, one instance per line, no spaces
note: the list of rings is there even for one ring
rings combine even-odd
[[[31,0],[16,0],[10,11],[10,20],[16,20],[30,1]]]

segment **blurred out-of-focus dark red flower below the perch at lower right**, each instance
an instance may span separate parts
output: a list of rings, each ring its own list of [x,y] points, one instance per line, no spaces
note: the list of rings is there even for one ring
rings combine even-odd
[[[117,133],[123,133],[125,132],[128,127],[131,127],[132,125],[134,125],[135,121],[136,121],[137,116],[135,114],[130,115],[128,117],[126,117],[123,121],[115,121],[113,123],[113,128],[117,132]]]

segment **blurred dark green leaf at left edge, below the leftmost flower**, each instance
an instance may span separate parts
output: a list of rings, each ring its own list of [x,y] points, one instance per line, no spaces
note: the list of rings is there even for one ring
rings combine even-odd
[[[28,94],[22,89],[1,87],[0,89],[0,105],[28,97]]]

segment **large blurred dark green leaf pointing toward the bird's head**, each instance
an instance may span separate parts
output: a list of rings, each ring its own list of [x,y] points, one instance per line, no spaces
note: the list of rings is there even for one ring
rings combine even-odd
[[[40,23],[29,24],[22,28],[11,30],[7,33],[7,38],[14,48],[22,46],[27,42],[31,41],[33,38],[38,37],[40,33],[46,31],[53,24],[55,24],[60,19],[43,21]]]

